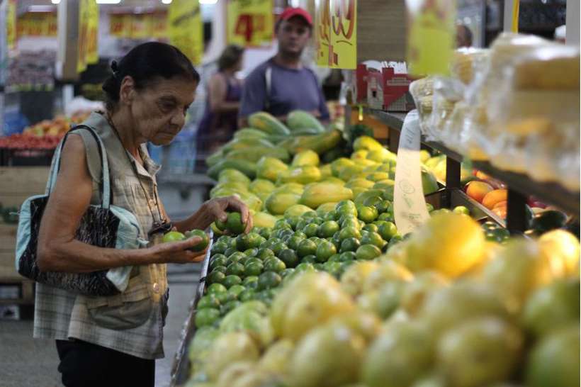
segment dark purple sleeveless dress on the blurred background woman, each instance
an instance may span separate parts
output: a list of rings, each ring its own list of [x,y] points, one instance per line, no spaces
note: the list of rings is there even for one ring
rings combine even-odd
[[[223,72],[218,72],[224,78],[226,89],[226,102],[238,102],[242,96],[242,85],[239,82],[230,82],[230,79]],[[198,126],[198,137],[213,138],[219,140],[229,140],[238,129],[238,112],[214,113],[210,108],[210,92],[205,102],[205,112],[200,125]]]

